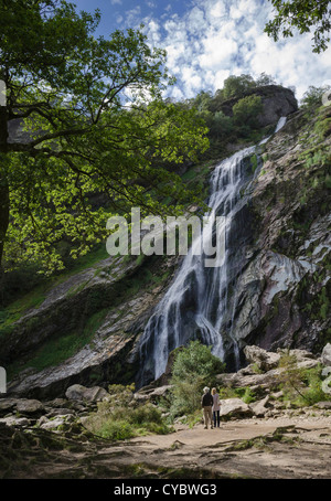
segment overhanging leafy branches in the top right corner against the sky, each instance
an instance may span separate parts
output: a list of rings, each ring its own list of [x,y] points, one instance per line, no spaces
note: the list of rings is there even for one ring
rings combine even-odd
[[[265,32],[273,36],[275,42],[279,36],[293,36],[293,29],[299,33],[313,31],[313,52],[320,53],[328,49],[331,30],[330,0],[271,0],[276,10],[275,19],[265,26]]]

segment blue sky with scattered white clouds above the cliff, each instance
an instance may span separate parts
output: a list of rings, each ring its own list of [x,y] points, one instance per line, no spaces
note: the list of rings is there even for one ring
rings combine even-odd
[[[331,46],[312,52],[312,34],[274,42],[264,33],[273,19],[268,0],[73,0],[78,10],[99,9],[96,32],[139,28],[151,46],[166,49],[167,67],[177,83],[167,92],[175,100],[214,94],[229,75],[266,73],[301,99],[309,86],[331,84]]]

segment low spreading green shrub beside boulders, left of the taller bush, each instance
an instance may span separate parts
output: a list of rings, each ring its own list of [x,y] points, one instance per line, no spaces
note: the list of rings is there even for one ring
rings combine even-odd
[[[98,403],[97,412],[90,414],[85,423],[93,434],[111,440],[124,440],[173,431],[158,408],[151,404],[137,404],[134,399],[134,385],[110,385],[108,391],[109,401]]]

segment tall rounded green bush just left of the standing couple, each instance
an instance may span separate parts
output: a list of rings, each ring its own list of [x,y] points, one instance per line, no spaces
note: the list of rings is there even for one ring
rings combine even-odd
[[[199,409],[203,387],[214,386],[216,374],[224,372],[224,363],[211,350],[212,347],[200,341],[190,341],[186,348],[178,350],[171,379],[172,415],[190,414]]]

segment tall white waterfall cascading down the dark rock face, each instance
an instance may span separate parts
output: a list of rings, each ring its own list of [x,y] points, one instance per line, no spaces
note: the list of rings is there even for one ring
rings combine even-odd
[[[285,125],[281,117],[276,131]],[[275,134],[274,132],[274,134]],[[269,139],[266,138],[265,142]],[[204,226],[202,234],[192,243],[188,255],[170,285],[168,291],[148,320],[139,340],[140,369],[137,385],[158,379],[163,374],[169,353],[190,339],[200,339],[212,345],[212,353],[225,358],[224,319],[228,295],[239,273],[241,255],[245,249],[245,217],[242,212],[247,205],[243,192],[252,179],[250,157],[256,147],[245,148],[217,164],[211,177],[210,216],[223,216],[225,255],[217,267],[205,267],[205,255],[196,255],[194,247],[204,241],[215,238],[215,228]],[[229,315],[233,320],[233,312]],[[232,350],[235,365],[239,364],[239,349],[226,330],[227,351]],[[229,347],[229,348],[228,348]]]

